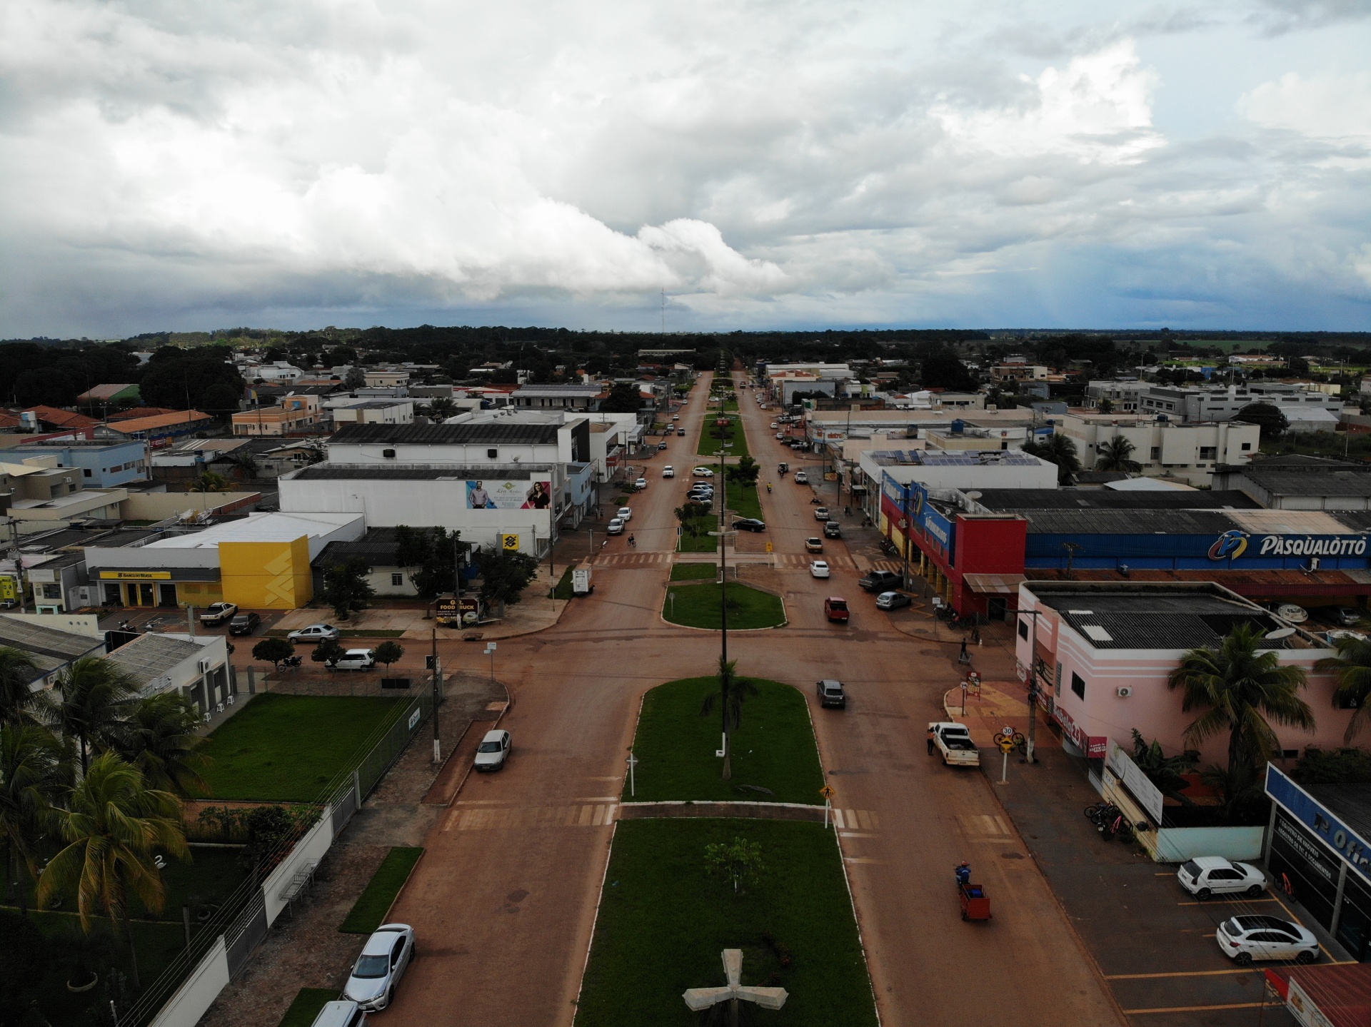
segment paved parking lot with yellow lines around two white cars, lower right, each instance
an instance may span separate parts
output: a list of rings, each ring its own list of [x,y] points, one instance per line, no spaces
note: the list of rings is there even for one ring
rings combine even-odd
[[[1152,862],[1134,846],[1104,841],[1082,810],[1098,801],[1083,769],[1060,749],[1038,750],[1039,764],[983,760],[1030,853],[1042,868],[1131,1023],[1150,1027],[1287,1027],[1285,1006],[1267,998],[1263,968],[1238,967],[1215,942],[1215,928],[1243,913],[1302,923],[1323,943],[1322,963],[1346,960],[1297,906],[1272,893],[1257,899],[1200,902],[1176,882],[1175,868]]]

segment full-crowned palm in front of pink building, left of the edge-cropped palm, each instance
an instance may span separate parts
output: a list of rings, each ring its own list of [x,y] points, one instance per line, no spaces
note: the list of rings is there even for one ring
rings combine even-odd
[[[1228,732],[1228,768],[1253,771],[1281,751],[1268,721],[1313,729],[1313,710],[1300,698],[1308,686],[1301,666],[1282,665],[1275,650],[1263,649],[1263,631],[1239,624],[1217,650],[1191,649],[1167,679],[1183,688],[1180,709],[1202,709],[1186,728],[1186,742],[1198,747],[1205,739]]]

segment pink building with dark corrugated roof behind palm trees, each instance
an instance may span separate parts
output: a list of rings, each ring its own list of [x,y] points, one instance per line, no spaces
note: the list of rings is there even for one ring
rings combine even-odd
[[[1174,754],[1187,747],[1185,729],[1202,710],[1182,712],[1183,692],[1168,688],[1167,676],[1187,650],[1217,649],[1245,623],[1275,632],[1281,661],[1309,672],[1305,701],[1318,727],[1274,725],[1283,762],[1305,746],[1344,745],[1352,712],[1334,709],[1333,677],[1313,673],[1316,660],[1333,655],[1324,639],[1209,581],[1027,581],[1019,587],[1015,651],[1021,677],[1036,669],[1047,714],[1091,758],[1104,758],[1111,738],[1131,751],[1134,728]],[[1226,762],[1227,745],[1227,732],[1208,739],[1200,765]]]

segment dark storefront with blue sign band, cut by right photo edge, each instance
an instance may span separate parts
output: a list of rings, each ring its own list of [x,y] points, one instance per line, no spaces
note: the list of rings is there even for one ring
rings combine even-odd
[[[1359,961],[1371,957],[1371,786],[1305,790],[1267,766],[1267,869]]]

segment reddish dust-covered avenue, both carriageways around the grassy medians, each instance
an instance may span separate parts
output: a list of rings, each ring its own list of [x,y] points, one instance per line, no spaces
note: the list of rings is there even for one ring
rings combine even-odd
[[[429,838],[395,910],[415,924],[422,956],[378,1023],[570,1023],[639,698],[661,681],[709,673],[717,660],[717,636],[659,617],[670,511],[686,487],[684,479],[664,485],[659,468],[670,462],[688,476],[694,447],[683,443],[696,439],[707,380],[681,418],[691,433],[648,463],[651,485],[633,500],[638,550],[628,555],[642,566],[605,565],[595,595],[573,603],[557,628],[500,643],[496,673],[514,694],[505,721],[513,761],[469,782]],[[810,491],[772,473],[777,459],[799,461],[771,437],[775,411],[758,410],[747,394],[740,409],[762,481],[776,485],[771,495],[764,488],[762,509],[791,624],[731,636],[729,655],[742,672],[791,681],[806,695],[820,677],[850,686],[849,710],[813,713],[843,810],[842,845],[883,1022],[1121,1023],[984,777],[924,753],[924,725],[958,679],[956,651],[891,620],[917,614],[879,613],[856,585],[846,543],[827,543],[831,581],[809,577]],[[627,540],[605,553],[618,562]],[[825,594],[851,601],[850,627],[824,621]],[[478,653],[452,644],[444,662],[481,669]],[[984,673],[1009,673],[1006,651],[987,644],[982,653]],[[988,924],[958,917],[951,868],[961,858],[993,897]]]

